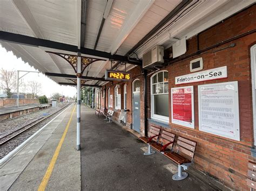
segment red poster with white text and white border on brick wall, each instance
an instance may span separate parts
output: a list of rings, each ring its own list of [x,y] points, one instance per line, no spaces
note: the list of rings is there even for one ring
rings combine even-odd
[[[172,123],[194,129],[193,86],[171,89]]]

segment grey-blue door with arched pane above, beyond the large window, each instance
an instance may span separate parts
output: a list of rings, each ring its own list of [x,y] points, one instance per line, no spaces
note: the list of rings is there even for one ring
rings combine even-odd
[[[133,114],[133,130],[140,132],[140,81],[135,80],[132,83],[132,114]]]

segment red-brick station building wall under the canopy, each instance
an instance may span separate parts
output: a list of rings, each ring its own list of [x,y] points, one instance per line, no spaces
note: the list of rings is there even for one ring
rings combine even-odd
[[[169,75],[169,123],[161,123],[151,118],[151,84],[147,76],[147,118],[148,125],[158,126],[175,133],[176,137],[183,136],[197,142],[196,154],[193,166],[214,178],[223,182],[226,186],[235,190],[248,190],[246,186],[248,161],[256,161],[251,155],[251,148],[254,146],[253,138],[253,111],[252,111],[252,82],[251,82],[251,55],[250,48],[256,44],[255,31],[226,44],[215,46],[198,55],[189,56],[198,51],[218,44],[221,41],[233,38],[247,31],[255,30],[256,26],[256,5],[252,5],[244,11],[227,18],[222,23],[187,39],[187,52],[180,56],[178,61],[169,63],[169,66],[160,70],[167,70]],[[197,39],[198,38],[198,39]],[[235,43],[234,47],[227,47]],[[199,45],[199,46],[198,46]],[[167,50],[170,52],[171,50]],[[184,58],[184,59],[183,59]],[[221,80],[204,81],[198,83],[175,84],[175,77],[191,74],[190,61],[196,58],[203,58],[204,69],[213,69],[227,66],[227,78]],[[144,75],[139,67],[131,71],[132,79],[127,84],[127,122],[132,125],[132,82],[140,80],[140,134],[144,135]],[[200,72],[200,71],[199,71]],[[198,121],[198,86],[221,82],[238,81],[239,90],[239,117],[240,117],[240,141],[213,135],[199,131]],[[123,109],[123,87],[125,83],[110,82],[105,88],[106,108],[107,89],[111,89],[114,107],[114,86],[121,85],[122,109]],[[184,126],[171,123],[171,88],[193,86],[194,88],[194,121],[195,128],[190,129]],[[102,98],[103,99],[103,98]],[[102,100],[102,103],[103,100]],[[104,104],[102,104],[104,107]],[[111,109],[114,109],[114,108]],[[114,120],[118,119],[120,110],[115,110]]]

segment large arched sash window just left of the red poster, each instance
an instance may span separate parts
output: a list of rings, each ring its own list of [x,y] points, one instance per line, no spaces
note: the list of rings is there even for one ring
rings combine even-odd
[[[166,71],[160,71],[151,77],[151,117],[169,122],[169,88]]]

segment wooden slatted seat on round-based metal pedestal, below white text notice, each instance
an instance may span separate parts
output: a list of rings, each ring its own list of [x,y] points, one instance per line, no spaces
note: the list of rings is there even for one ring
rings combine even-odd
[[[173,180],[183,180],[187,178],[187,172],[182,172],[183,169],[187,169],[191,165],[194,158],[194,151],[196,149],[196,142],[192,140],[178,137],[176,150],[177,152],[164,152],[164,155],[178,164],[178,173],[172,176]]]

